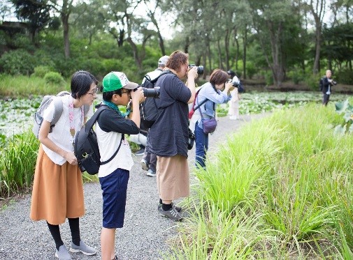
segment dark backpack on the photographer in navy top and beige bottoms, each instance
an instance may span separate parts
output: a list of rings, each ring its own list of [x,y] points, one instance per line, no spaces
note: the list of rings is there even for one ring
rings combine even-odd
[[[151,79],[149,75],[145,75],[145,81],[141,86],[146,89],[153,89],[154,84],[156,84],[159,77],[161,77],[161,75],[166,75],[167,73],[170,73],[170,71],[165,70],[161,72],[161,74],[159,74],[159,76],[156,77],[155,79]],[[143,130],[147,130],[148,128],[151,128],[151,126],[159,116],[158,107],[156,104],[156,100],[154,100],[154,98],[146,98],[146,100],[141,103],[140,116],[141,116],[140,128]]]

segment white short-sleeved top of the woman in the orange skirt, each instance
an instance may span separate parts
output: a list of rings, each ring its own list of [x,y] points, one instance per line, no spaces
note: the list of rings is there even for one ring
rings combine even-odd
[[[73,141],[75,140],[75,136],[72,137],[70,133],[70,121],[69,121],[69,104],[72,102],[71,95],[64,95],[61,98],[63,103],[63,111],[62,116],[60,116],[59,121],[55,124],[55,127],[52,128],[52,132],[49,133],[48,138],[52,140],[57,146],[62,148],[64,151],[73,152]],[[49,107],[45,109],[43,114],[43,118],[45,121],[51,122],[54,117],[54,102],[51,102]],[[74,125],[75,125],[75,134],[80,131],[83,124],[83,117],[81,108],[74,108]],[[48,155],[50,160],[57,165],[64,165],[66,160],[59,154],[50,150],[50,148],[43,145],[44,152]]]

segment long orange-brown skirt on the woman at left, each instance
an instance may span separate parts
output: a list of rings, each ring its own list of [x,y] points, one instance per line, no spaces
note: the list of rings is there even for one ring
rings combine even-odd
[[[31,220],[62,224],[85,214],[82,174],[77,165],[56,165],[40,146],[34,173]]]

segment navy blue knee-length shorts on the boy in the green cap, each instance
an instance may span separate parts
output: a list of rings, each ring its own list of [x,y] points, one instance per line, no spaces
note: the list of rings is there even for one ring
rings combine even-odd
[[[124,226],[129,176],[129,171],[116,169],[108,176],[99,178],[103,190],[103,227],[107,229]]]

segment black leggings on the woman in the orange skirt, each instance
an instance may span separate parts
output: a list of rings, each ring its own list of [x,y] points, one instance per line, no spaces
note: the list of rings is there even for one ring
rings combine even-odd
[[[80,245],[80,222],[78,220],[78,217],[76,218],[68,218],[69,220],[69,225],[70,225],[70,231],[71,231],[71,238],[72,242],[75,245]],[[50,234],[52,234],[52,238],[54,238],[55,242],[55,247],[57,247],[57,250],[59,250],[59,247],[64,245],[62,242],[62,236],[60,235],[60,228],[58,224],[48,224]]]

